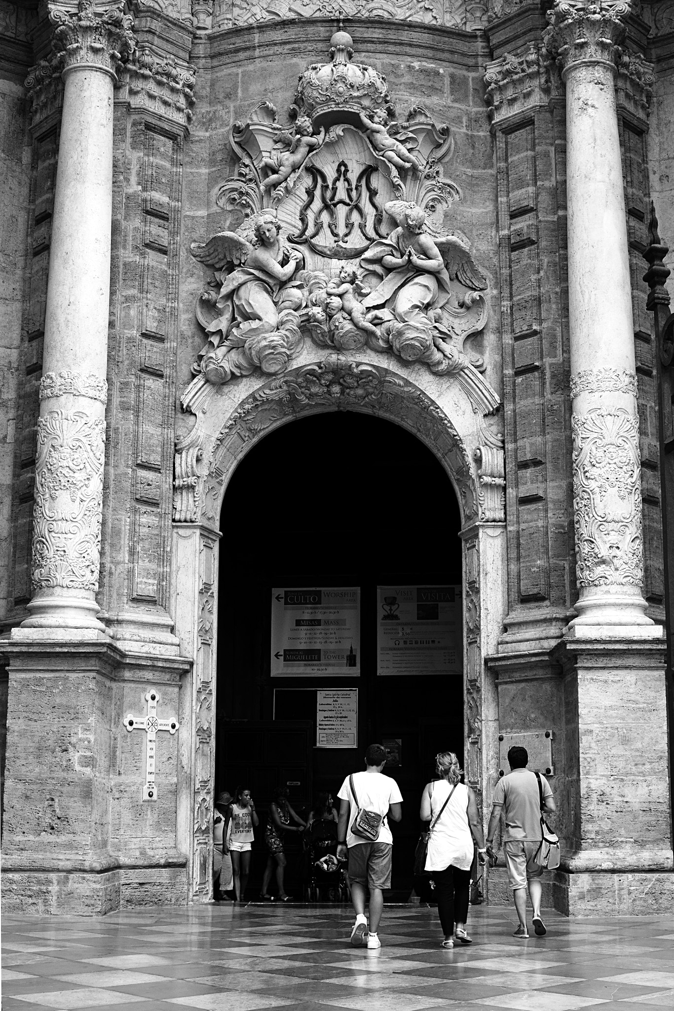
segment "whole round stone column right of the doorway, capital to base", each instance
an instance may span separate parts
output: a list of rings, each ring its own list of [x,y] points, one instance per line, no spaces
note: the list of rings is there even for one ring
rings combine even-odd
[[[646,616],[637,376],[615,111],[630,3],[557,2],[546,31],[566,83],[569,323],[578,617],[659,637]],[[589,633],[588,633],[589,634]],[[637,634],[635,632],[635,634]]]

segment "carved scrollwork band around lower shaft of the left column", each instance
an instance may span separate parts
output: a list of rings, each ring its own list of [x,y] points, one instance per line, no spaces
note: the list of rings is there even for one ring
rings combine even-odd
[[[96,591],[101,546],[105,422],[52,410],[37,423],[32,581]]]

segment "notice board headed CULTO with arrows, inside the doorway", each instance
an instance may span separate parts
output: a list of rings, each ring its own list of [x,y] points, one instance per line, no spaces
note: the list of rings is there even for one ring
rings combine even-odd
[[[272,590],[272,677],[353,677],[361,672],[361,590]]]

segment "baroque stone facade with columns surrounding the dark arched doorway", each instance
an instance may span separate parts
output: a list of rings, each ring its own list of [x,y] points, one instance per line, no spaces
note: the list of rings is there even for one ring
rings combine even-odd
[[[223,498],[326,411],[452,482],[483,819],[545,728],[548,901],[668,908],[668,5],[2,0],[0,48],[7,908],[211,900]]]

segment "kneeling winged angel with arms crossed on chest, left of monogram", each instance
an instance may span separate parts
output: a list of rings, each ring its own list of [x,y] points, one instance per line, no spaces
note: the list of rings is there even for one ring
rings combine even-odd
[[[250,375],[256,365],[282,372],[301,346],[297,310],[305,292],[297,273],[303,258],[279,232],[276,214],[268,210],[256,219],[252,244],[234,232],[192,243],[192,256],[215,267],[220,282],[219,295],[202,296],[217,314],[201,319],[209,340],[195,366],[210,382]]]

